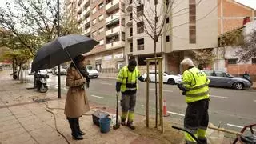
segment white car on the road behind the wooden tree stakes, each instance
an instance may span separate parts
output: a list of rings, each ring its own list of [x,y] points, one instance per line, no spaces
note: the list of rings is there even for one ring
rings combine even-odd
[[[155,72],[154,70],[150,70],[150,78],[148,79],[149,82],[155,82]],[[143,74],[142,76],[143,78],[145,78],[145,80],[147,79],[146,78],[146,73]],[[174,84],[177,84],[177,83],[180,83],[182,82],[182,75],[178,74],[178,75],[171,75],[171,74],[167,74],[166,72],[164,72],[162,74],[162,81],[164,83],[168,83],[170,85],[174,85]],[[159,80],[159,75],[158,75],[158,71],[157,71],[157,82]]]

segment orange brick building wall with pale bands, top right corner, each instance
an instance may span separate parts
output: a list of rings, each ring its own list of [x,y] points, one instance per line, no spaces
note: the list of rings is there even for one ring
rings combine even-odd
[[[218,34],[237,29],[254,20],[254,9],[234,0],[218,0]]]

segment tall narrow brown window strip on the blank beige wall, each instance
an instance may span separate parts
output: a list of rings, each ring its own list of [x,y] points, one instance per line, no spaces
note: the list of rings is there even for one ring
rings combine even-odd
[[[196,2],[195,0],[190,0],[189,2],[190,43],[196,43]]]

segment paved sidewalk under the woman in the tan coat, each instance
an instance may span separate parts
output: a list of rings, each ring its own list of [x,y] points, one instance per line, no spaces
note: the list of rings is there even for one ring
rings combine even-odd
[[[92,122],[93,110],[101,106],[90,103],[90,112],[80,118],[81,129],[86,133],[82,141],[74,141],[70,135],[70,126],[63,113],[66,98],[62,95],[57,98],[57,92],[48,90],[41,94],[36,90],[27,90],[31,84],[21,84],[14,81],[10,72],[3,70],[0,72],[0,144],[18,144],[18,143],[67,143],[65,138],[55,130],[55,121],[53,114],[46,111],[47,101],[51,110],[56,116],[58,130],[67,138],[70,143],[122,143],[122,144],[154,144],[161,143],[158,139],[145,137],[136,134],[126,126],[121,126],[118,130],[110,128],[107,134],[101,134],[99,127]],[[34,102],[39,100],[39,102]],[[41,101],[41,102],[40,102]],[[106,107],[104,109],[110,114],[115,110]],[[144,117],[136,116],[137,122]]]

